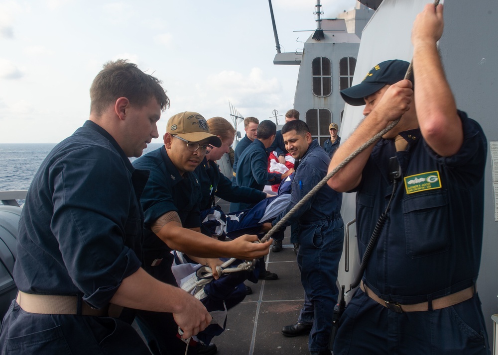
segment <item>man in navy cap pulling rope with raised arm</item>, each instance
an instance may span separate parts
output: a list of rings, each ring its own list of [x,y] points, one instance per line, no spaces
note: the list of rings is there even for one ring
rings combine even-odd
[[[329,172],[401,117],[328,184],[357,191],[360,254],[390,209],[363,280],[340,320],[334,355],[489,354],[476,291],[483,238],[486,137],[457,110],[437,41],[443,6],[428,4],[412,29],[414,89],[408,63],[379,63],[341,91],[365,105],[363,122],[334,155]],[[400,166],[399,184],[389,160]]]

